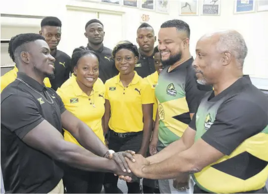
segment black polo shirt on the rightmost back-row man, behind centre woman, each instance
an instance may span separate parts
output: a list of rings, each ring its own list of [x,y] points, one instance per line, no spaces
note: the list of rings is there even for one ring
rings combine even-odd
[[[145,78],[154,73],[154,55],[148,57],[139,50],[139,58],[134,70],[141,78]]]

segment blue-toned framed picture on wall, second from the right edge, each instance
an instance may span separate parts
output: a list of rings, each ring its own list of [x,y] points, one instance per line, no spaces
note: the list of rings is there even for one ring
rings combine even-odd
[[[235,0],[234,13],[252,13],[255,11],[255,0]]]

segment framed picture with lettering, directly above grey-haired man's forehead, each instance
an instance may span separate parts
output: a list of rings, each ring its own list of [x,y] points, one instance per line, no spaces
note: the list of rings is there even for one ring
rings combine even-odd
[[[220,15],[221,0],[201,0],[202,15]]]

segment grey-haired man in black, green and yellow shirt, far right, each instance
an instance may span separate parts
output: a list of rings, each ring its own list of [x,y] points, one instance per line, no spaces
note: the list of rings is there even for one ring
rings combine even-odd
[[[128,161],[138,177],[177,177],[194,193],[268,193],[268,98],[243,75],[247,46],[236,31],[206,35],[193,62],[198,82],[213,84],[182,137],[159,154]]]

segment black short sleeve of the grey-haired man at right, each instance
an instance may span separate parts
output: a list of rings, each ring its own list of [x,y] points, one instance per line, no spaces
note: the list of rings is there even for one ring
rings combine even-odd
[[[214,123],[201,138],[223,154],[230,155],[267,124],[267,114],[258,104],[242,99],[230,100],[221,105]]]

